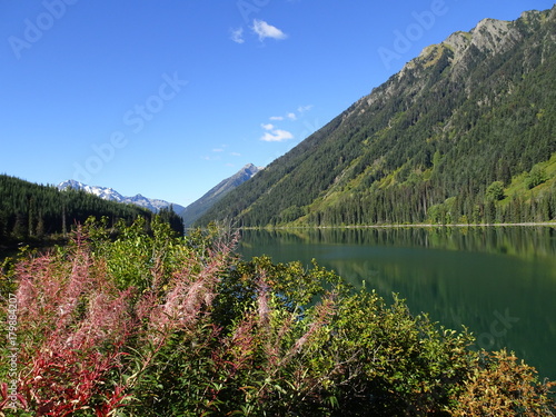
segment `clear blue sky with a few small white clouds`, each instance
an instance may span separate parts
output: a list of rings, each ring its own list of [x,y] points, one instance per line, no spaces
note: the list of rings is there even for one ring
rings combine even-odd
[[[2,0],[0,173],[180,205],[420,50],[554,1]]]

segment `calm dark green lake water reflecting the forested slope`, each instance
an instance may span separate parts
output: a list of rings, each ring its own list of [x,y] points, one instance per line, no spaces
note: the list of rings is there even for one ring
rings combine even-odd
[[[239,252],[277,262],[312,258],[387,301],[485,349],[507,347],[556,380],[556,228],[338,228],[244,230]]]

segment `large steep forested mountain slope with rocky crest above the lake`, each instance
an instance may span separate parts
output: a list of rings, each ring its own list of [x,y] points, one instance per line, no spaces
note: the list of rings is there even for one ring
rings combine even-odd
[[[199,224],[554,219],[555,68],[556,7],[483,20],[426,48]]]

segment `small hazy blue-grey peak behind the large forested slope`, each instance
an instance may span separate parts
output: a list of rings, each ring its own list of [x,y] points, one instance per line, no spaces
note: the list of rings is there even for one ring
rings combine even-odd
[[[183,225],[186,227],[191,226],[217,201],[224,198],[228,192],[230,192],[236,187],[240,186],[248,179],[252,178],[261,169],[264,168],[256,167],[252,163],[248,163],[245,167],[242,167],[238,172],[236,172],[234,176],[220,181],[217,186],[207,191],[201,198],[187,206],[183,209],[183,211],[180,212],[180,216],[183,219]]]

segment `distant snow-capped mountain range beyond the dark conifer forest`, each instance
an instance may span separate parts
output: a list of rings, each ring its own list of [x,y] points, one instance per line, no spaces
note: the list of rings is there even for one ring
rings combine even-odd
[[[168,202],[160,199],[143,197],[140,193],[133,197],[125,197],[112,188],[108,187],[98,187],[98,186],[88,186],[82,182],[76,181],[73,179],[60,182],[58,185],[59,190],[64,190],[67,188],[71,188],[75,190],[83,190],[86,192],[92,193],[102,198],[103,200],[123,202],[129,205],[139,206],[146,208],[152,212],[159,212],[162,208],[172,207],[173,211],[177,215],[180,215],[186,208],[180,205],[176,205],[172,202]]]

